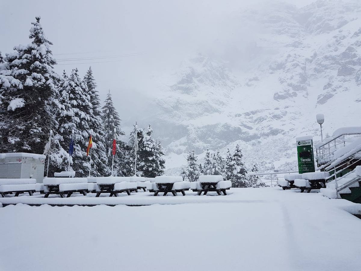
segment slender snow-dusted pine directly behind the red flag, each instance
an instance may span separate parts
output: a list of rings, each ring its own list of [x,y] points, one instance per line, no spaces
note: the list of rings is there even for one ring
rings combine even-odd
[[[101,119],[104,126],[104,138],[105,138],[105,150],[106,156],[108,158],[108,167],[110,171],[112,170],[112,149],[113,149],[113,139],[114,139],[114,128],[116,129],[116,142],[117,150],[116,155],[114,156],[114,172],[115,176],[132,176],[131,172],[131,157],[129,146],[126,142],[121,140],[121,136],[125,135],[123,132],[120,122],[121,119],[117,112],[117,109],[114,107],[112,95],[110,90],[106,95],[104,106],[101,112]],[[111,172],[110,172],[111,173]]]

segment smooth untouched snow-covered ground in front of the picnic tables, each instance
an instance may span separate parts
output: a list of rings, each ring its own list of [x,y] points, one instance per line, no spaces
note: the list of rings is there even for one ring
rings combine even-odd
[[[349,213],[361,214],[360,204],[279,188],[213,195],[74,196],[56,200],[160,204],[0,208],[0,270],[360,270],[361,220]],[[26,199],[42,200],[17,200]]]

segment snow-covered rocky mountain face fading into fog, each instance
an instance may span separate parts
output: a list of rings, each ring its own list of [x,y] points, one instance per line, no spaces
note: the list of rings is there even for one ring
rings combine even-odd
[[[296,161],[296,136],[320,139],[316,113],[325,114],[325,134],[360,125],[360,1],[275,2],[229,20],[235,40],[222,43],[225,52],[184,61],[153,101],[152,126],[169,170],[192,149],[202,158],[206,149],[225,154],[237,143],[250,168],[285,168]],[[245,29],[252,35],[237,35]]]

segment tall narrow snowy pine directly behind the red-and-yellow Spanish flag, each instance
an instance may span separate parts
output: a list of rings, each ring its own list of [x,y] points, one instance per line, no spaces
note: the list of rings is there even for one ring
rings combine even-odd
[[[107,176],[109,175],[109,159],[106,156],[105,149],[105,129],[103,121],[101,119],[100,111],[100,99],[99,93],[96,90],[96,82],[93,77],[93,71],[91,67],[87,70],[87,73],[83,79],[84,85],[86,85],[87,94],[90,98],[91,108],[84,108],[84,112],[90,116],[88,126],[90,130],[93,130],[93,150],[92,150],[92,172],[91,175]],[[113,132],[114,134],[114,132]],[[113,140],[112,140],[113,142]],[[110,165],[111,166],[111,165]]]

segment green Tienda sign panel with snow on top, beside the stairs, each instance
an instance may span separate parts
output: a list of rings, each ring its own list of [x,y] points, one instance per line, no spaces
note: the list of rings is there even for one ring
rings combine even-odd
[[[314,172],[315,164],[313,159],[312,137],[310,137],[310,139],[296,138],[296,142],[298,173]]]

